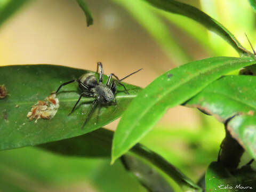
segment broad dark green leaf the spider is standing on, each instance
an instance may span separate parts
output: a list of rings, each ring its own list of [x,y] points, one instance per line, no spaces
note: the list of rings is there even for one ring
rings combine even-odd
[[[91,71],[53,65],[5,66],[0,67],[0,71],[0,84],[5,85],[9,94],[0,99],[0,150],[39,145],[91,132],[121,116],[141,90],[125,84],[130,93],[126,94],[123,87],[118,86],[117,105],[102,107],[100,111],[97,108],[81,130],[93,99],[82,98],[74,113],[68,116],[79,98],[77,83],[63,86],[57,94],[60,108],[52,119],[38,119],[34,123],[34,120],[29,121],[27,114],[31,106],[56,91],[61,83]],[[107,76],[103,80],[106,83]]]

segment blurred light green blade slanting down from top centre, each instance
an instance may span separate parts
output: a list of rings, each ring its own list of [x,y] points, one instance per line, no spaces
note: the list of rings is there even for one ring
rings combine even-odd
[[[143,1],[113,1],[125,7],[178,65],[191,60],[190,55],[177,42],[177,38],[173,37],[168,26],[157,17],[147,3]]]

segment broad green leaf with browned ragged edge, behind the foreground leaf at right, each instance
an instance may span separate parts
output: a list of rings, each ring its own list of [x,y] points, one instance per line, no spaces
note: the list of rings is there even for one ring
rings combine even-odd
[[[205,87],[186,106],[206,111],[224,123],[234,115],[256,111],[255,90],[255,76],[225,76]]]

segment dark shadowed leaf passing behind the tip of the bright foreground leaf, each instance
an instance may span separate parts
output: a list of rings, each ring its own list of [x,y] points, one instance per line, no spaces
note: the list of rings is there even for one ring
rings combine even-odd
[[[86,135],[89,136],[87,137]],[[98,129],[86,135],[56,142],[49,142],[38,147],[69,156],[107,157],[109,154],[110,157],[113,131]],[[89,137],[91,138],[87,140]],[[90,143],[91,141],[93,141],[92,143],[95,146],[92,146],[92,143]],[[85,146],[84,151],[82,149],[83,147],[81,146]],[[66,148],[67,150],[65,150]],[[185,174],[180,172],[175,166],[167,162],[163,157],[154,151],[151,151],[139,143],[135,145],[131,151],[157,166],[159,169],[169,175],[170,178],[177,182],[179,187],[185,191],[189,191],[191,189],[199,191],[198,186],[192,180],[186,177]]]

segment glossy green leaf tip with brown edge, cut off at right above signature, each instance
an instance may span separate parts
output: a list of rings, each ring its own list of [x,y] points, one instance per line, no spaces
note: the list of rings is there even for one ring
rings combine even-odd
[[[256,118],[251,115],[238,115],[232,118],[227,129],[248,153],[256,159]]]

